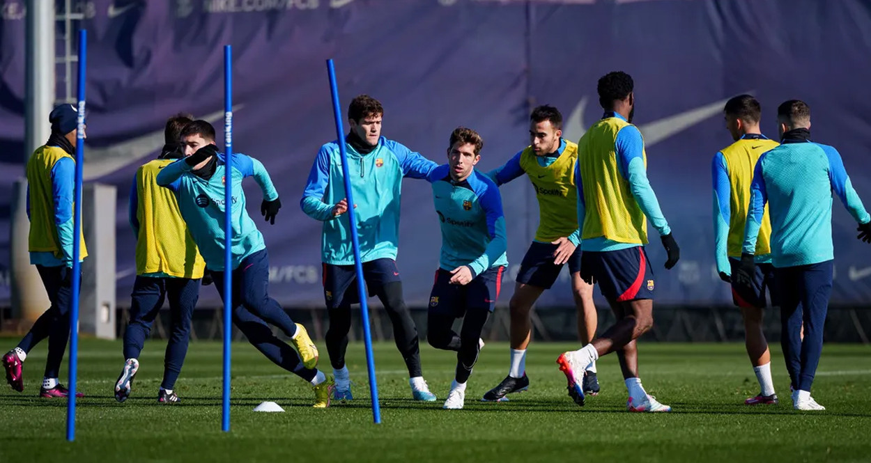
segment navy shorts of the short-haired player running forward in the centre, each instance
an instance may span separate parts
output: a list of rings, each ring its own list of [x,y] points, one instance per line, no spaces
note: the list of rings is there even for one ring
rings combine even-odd
[[[467,311],[493,312],[499,289],[502,287],[502,273],[505,267],[491,267],[478,275],[468,285],[452,285],[449,271],[438,269],[433,291],[429,294],[429,312],[452,315],[459,319]]]

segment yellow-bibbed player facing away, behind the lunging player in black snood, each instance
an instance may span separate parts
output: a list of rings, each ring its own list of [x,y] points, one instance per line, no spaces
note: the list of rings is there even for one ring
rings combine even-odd
[[[169,299],[172,328],[166,343],[164,376],[158,402],[179,402],[175,381],[185,363],[193,308],[206,263],[199,255],[191,232],[179,212],[172,191],[160,188],[159,171],[183,158],[179,140],[192,116],[178,114],[166,121],[160,156],[140,166],[130,191],[130,225],[136,233],[136,281],[133,283],[130,322],[124,333],[124,368],[115,383],[115,399],[124,402],[131,393],[139,369],[139,353],[152,330],[152,323]]]

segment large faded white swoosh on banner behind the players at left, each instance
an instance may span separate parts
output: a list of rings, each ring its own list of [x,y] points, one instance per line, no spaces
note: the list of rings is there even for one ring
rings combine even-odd
[[[239,111],[244,104],[233,106],[233,112]],[[202,117],[210,123],[223,120],[224,111],[215,111]],[[87,148],[83,166],[83,178],[90,181],[111,174],[127,164],[145,158],[164,144],[164,129],[152,131],[145,135],[103,148]]]

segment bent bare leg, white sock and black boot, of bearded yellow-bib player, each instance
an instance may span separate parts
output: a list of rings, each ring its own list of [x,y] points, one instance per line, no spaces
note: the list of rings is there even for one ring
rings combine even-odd
[[[530,386],[530,379],[526,376],[526,347],[530,345],[532,334],[530,312],[542,292],[544,288],[535,285],[517,283],[514,286],[514,295],[508,303],[511,312],[511,367],[508,376],[485,393],[483,400],[502,401],[505,395],[525,391]]]

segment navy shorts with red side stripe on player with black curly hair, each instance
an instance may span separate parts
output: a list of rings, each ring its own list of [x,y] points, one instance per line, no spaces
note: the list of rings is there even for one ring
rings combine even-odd
[[[598,285],[605,299],[653,299],[653,269],[644,246],[618,251],[584,251],[581,278]]]

